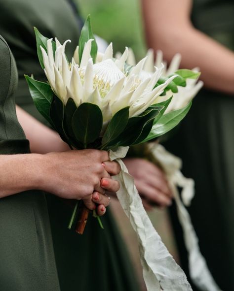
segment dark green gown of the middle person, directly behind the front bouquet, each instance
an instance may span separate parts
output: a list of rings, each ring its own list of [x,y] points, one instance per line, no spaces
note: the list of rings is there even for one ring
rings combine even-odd
[[[7,40],[19,71],[16,102],[46,124],[33,105],[24,74],[46,81],[37,57],[33,26],[66,46],[68,58],[78,45],[78,21],[66,0],[0,0],[0,33]],[[10,19],[10,23],[9,23]],[[82,236],[67,229],[72,208],[62,199],[47,195],[53,245],[62,291],[137,291],[125,245],[109,210],[102,222],[91,216]]]

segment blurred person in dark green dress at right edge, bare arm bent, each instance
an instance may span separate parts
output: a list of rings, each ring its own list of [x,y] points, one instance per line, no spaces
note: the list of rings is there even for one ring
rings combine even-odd
[[[234,290],[234,1],[144,0],[148,45],[166,61],[198,66],[204,89],[166,148],[182,158],[195,180],[188,208],[201,253],[219,287]],[[171,209],[182,268],[188,275],[183,234]],[[196,290],[194,288],[194,290]]]

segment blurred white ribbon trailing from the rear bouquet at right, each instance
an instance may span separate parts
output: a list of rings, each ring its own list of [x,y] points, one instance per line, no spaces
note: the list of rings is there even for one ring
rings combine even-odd
[[[215,283],[207,267],[205,259],[200,253],[198,239],[191,223],[190,215],[183,205],[177,189],[177,186],[182,188],[183,202],[185,205],[190,205],[191,199],[194,196],[194,181],[183,176],[180,171],[182,167],[181,160],[167,152],[162,145],[157,143],[149,143],[147,147],[153,155],[154,160],[161,166],[166,174],[167,181],[173,192],[178,218],[184,231],[185,246],[189,254],[189,270],[191,279],[202,291],[221,291]],[[177,291],[177,289],[175,290]]]

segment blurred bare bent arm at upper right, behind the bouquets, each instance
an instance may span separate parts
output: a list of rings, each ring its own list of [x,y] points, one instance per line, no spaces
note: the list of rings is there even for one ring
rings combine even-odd
[[[142,0],[148,46],[163,51],[166,61],[182,55],[182,67],[201,70],[204,86],[234,94],[234,53],[190,21],[192,0]]]

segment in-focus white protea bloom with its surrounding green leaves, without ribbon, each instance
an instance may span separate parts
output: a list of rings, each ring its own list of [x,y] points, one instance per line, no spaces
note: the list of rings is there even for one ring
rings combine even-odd
[[[149,56],[129,65],[128,48],[117,60],[112,43],[104,54],[98,53],[89,16],[71,61],[65,54],[70,40],[60,44],[36,28],[35,33],[39,62],[48,83],[25,76],[30,93],[39,112],[71,148],[116,150],[143,143],[174,128],[191,107],[189,102],[165,114],[172,98],[165,100],[164,95],[186,86],[185,72],[192,78],[199,73],[180,70],[162,79],[162,64],[145,72]],[[70,228],[77,205],[75,209]]]

